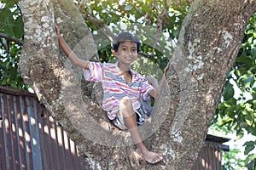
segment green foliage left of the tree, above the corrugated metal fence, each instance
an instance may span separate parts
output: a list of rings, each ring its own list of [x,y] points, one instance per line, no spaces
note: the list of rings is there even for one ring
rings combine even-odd
[[[22,40],[23,20],[15,1],[3,1],[0,5],[0,33]],[[21,48],[15,42],[9,41],[9,38],[0,38],[0,85],[28,88],[17,71]]]

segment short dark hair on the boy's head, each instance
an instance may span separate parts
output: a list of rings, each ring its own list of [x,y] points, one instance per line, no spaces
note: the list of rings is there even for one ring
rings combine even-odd
[[[129,31],[123,31],[121,33],[119,33],[118,36],[113,38],[113,42],[112,42],[112,49],[117,52],[118,48],[119,48],[119,44],[125,41],[131,41],[131,42],[136,42],[137,43],[137,53],[140,51],[140,39],[132,34]]]

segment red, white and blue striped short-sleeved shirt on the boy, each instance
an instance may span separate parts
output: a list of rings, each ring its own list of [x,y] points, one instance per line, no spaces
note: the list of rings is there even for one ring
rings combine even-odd
[[[150,99],[148,93],[154,88],[148,84],[146,77],[131,70],[132,80],[126,84],[123,73],[116,64],[89,62],[89,70],[84,69],[84,79],[90,82],[101,82],[103,88],[102,108],[108,112],[108,118],[113,120],[119,111],[120,99],[125,96],[132,101],[133,109],[140,107],[140,97]]]

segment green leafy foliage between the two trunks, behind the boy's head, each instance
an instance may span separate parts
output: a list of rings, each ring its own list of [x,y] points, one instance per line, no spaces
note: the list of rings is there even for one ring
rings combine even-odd
[[[160,40],[161,47],[167,47],[167,41],[163,41],[166,37],[170,39],[177,38],[178,31],[182,25],[183,18],[188,12],[188,6],[180,5],[178,7],[167,5],[165,1],[91,1],[84,6],[82,10],[85,14],[85,20],[89,18],[96,18],[102,20],[105,25],[115,33],[129,30],[139,35],[143,41],[141,47],[142,52],[146,52],[146,57],[141,57],[134,65],[134,69],[146,74],[154,75],[154,77],[161,77],[163,69],[166,67],[170,55],[172,55],[173,47],[170,50],[156,47],[154,44],[147,44],[150,38],[157,41]],[[97,24],[95,20],[86,20],[87,25],[92,32],[101,29],[102,25]],[[150,37],[155,35],[156,37]],[[166,36],[164,36],[166,35]],[[95,38],[102,42],[101,38]],[[108,39],[108,37],[103,38]],[[98,48],[100,60],[102,62],[113,62],[113,55],[111,54],[111,45]],[[159,69],[154,69],[155,64]],[[143,65],[139,66],[139,65]],[[147,68],[147,69],[145,69]],[[160,70],[160,71],[159,71]]]

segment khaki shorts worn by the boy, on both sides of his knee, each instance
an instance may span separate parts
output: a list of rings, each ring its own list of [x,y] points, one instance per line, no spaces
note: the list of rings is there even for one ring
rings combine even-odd
[[[135,110],[135,113],[137,116],[137,125],[143,124],[143,122],[145,122],[148,119],[148,116],[150,115],[150,113],[149,114],[145,113],[142,106],[137,110]],[[116,118],[113,119],[112,122],[116,127],[119,127],[121,130],[127,129],[127,127],[125,127],[124,117],[120,115],[119,111],[116,115]]]

